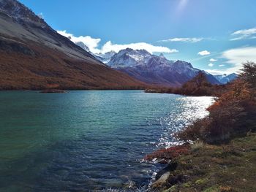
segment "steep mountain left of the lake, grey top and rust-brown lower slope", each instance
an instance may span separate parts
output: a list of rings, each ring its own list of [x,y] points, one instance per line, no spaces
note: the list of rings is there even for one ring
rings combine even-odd
[[[0,0],[0,89],[138,88],[16,0]]]

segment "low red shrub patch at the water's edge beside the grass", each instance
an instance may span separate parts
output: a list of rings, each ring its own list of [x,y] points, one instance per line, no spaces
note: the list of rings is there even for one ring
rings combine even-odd
[[[169,147],[167,149],[160,149],[154,151],[153,153],[146,155],[144,158],[147,161],[152,161],[154,158],[164,158],[173,159],[179,155],[184,155],[189,153],[189,145],[178,145],[174,147]]]

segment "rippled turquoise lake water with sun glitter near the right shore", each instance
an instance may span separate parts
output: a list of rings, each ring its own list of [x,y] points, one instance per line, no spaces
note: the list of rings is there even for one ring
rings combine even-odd
[[[208,114],[211,97],[143,91],[0,92],[0,191],[147,186],[143,157]]]

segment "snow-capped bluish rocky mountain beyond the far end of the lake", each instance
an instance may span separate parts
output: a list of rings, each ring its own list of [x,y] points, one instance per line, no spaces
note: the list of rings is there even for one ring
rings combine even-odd
[[[169,61],[162,54],[157,56],[146,50],[130,48],[120,50],[113,55],[108,66],[148,84],[164,86],[181,86],[201,72],[186,61]],[[213,75],[203,73],[206,74],[209,82],[219,84]]]

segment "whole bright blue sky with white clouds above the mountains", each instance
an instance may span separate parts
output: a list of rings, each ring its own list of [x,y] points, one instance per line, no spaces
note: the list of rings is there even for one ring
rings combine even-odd
[[[256,62],[255,0],[20,2],[94,53],[145,48],[214,74]]]

